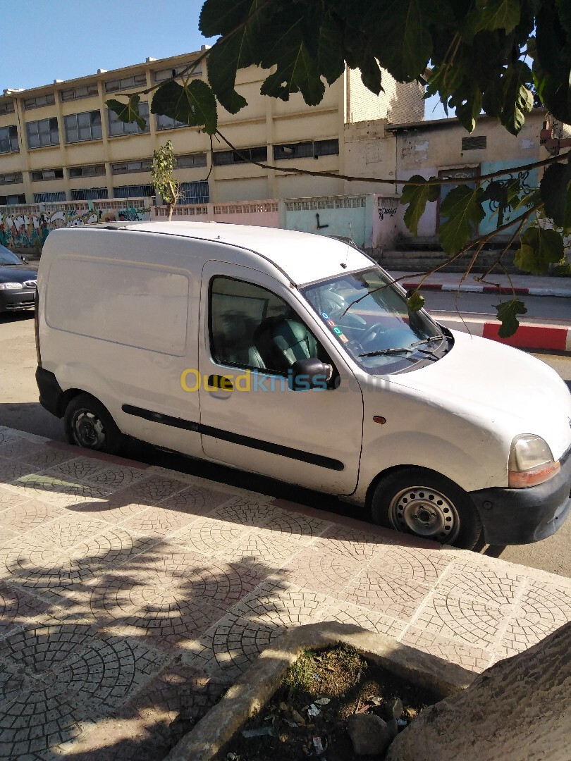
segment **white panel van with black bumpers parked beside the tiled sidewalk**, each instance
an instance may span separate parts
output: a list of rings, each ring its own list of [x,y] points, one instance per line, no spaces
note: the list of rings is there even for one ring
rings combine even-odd
[[[455,333],[355,247],[241,225],[49,234],[40,402],[69,441],[123,435],[370,505],[471,547],[526,543],[571,506],[571,395],[543,362]]]

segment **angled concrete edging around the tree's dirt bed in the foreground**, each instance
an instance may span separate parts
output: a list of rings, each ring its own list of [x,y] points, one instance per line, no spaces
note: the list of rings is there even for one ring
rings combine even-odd
[[[276,639],[245,671],[164,761],[211,761],[236,731],[255,715],[279,686],[288,667],[307,650],[327,648],[343,642],[365,658],[444,698],[464,689],[477,677],[455,664],[442,661],[353,624],[334,621],[298,626]]]

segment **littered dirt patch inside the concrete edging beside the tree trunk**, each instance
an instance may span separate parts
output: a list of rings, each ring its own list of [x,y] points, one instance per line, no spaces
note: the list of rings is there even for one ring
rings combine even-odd
[[[270,701],[216,761],[364,761],[367,756],[353,752],[347,719],[355,713],[375,713],[388,720],[397,699],[402,702],[402,731],[439,697],[368,663],[349,645],[305,651]]]

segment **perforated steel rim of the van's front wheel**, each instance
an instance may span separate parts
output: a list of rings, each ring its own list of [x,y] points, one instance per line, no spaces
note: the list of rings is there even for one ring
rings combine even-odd
[[[389,520],[397,531],[415,533],[442,544],[455,542],[460,516],[454,502],[429,486],[408,486],[391,499]]]

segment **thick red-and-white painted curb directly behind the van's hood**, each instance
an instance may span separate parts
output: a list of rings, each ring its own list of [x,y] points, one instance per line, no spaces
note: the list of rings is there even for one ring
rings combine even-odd
[[[451,330],[471,333],[472,336],[483,336],[518,349],[571,352],[571,323],[550,324],[540,321],[520,323],[513,336],[500,338],[498,333],[501,323],[498,320],[490,320],[490,317],[486,315],[460,317],[454,312],[435,314],[432,311],[430,314],[437,322]]]

